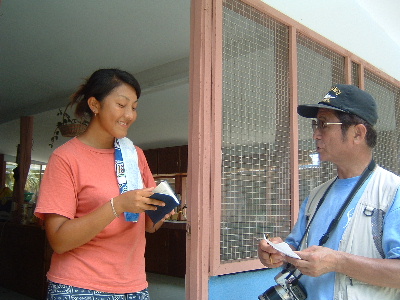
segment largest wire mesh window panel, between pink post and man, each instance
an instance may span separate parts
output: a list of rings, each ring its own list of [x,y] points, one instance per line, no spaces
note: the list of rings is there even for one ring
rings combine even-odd
[[[239,1],[223,10],[221,261],[290,230],[288,28]]]

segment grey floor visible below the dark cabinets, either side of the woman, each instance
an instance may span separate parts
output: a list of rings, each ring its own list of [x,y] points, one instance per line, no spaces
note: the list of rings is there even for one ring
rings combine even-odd
[[[185,279],[147,273],[151,300],[185,300]],[[36,300],[0,287],[0,300]]]

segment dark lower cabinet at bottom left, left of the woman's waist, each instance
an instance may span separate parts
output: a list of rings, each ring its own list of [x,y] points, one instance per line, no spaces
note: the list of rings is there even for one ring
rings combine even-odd
[[[37,225],[0,222],[0,286],[43,300],[53,253]]]

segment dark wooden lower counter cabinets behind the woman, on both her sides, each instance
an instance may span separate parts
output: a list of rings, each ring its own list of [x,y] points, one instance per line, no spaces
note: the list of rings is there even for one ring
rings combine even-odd
[[[45,231],[37,225],[0,222],[0,286],[46,299],[46,273],[51,249]],[[185,277],[186,222],[166,222],[155,233],[146,233],[146,271]]]

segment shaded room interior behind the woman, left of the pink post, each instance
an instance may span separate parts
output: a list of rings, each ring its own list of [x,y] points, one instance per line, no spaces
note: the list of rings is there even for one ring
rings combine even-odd
[[[134,74],[142,96],[128,137],[146,151],[155,179],[168,180],[182,199],[180,213],[148,237],[150,293],[154,300],[184,299],[190,1],[0,1],[0,14],[0,139],[7,141],[0,153],[7,174],[16,164],[21,116],[33,118],[31,172],[40,181],[52,151],[71,138],[56,133],[57,124],[65,114],[74,118],[65,107],[83,80],[100,68]],[[32,189],[31,203],[38,192]],[[0,299],[44,299],[51,251],[31,206],[23,228],[10,228],[0,215]],[[31,241],[20,238],[28,235]],[[9,256],[8,238],[22,250]],[[160,246],[167,247],[163,255]]]

